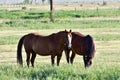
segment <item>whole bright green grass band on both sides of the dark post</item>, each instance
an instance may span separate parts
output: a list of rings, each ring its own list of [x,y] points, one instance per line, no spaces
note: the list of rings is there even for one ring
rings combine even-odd
[[[85,9],[85,10],[59,10],[55,11],[56,18],[85,18],[120,16],[120,9]],[[49,18],[49,11],[44,10],[0,10],[3,19],[41,19]]]

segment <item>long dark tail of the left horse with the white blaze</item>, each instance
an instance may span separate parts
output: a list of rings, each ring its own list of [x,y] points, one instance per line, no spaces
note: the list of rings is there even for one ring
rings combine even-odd
[[[22,44],[23,44],[24,37],[25,37],[25,36],[23,36],[23,37],[19,40],[19,43],[18,43],[18,46],[17,46],[17,63],[19,63],[21,66],[23,66],[23,60],[22,60]]]

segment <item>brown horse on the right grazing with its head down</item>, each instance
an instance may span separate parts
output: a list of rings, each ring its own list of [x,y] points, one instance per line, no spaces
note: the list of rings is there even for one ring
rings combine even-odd
[[[75,55],[82,55],[85,67],[92,65],[92,59],[95,55],[95,45],[93,38],[90,35],[84,36],[79,32],[72,32],[72,42],[71,47],[65,47],[66,59],[71,64],[75,58]],[[70,51],[72,50],[72,55],[70,56]]]

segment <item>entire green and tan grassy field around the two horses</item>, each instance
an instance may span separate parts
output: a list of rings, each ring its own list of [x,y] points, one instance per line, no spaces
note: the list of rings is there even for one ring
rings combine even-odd
[[[27,5],[21,10],[23,6],[0,5],[0,80],[120,80],[119,3],[55,4],[53,23],[48,5]],[[50,56],[37,56],[35,68],[28,68],[24,49],[24,67],[17,65],[16,48],[23,35],[49,35],[65,29],[94,38],[96,55],[90,68],[84,68],[79,55],[73,65],[67,64],[64,52],[60,66],[51,66]]]

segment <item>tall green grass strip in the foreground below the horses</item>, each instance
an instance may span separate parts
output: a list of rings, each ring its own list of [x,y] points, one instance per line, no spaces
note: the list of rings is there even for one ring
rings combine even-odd
[[[76,65],[37,65],[35,68],[20,68],[13,65],[0,66],[1,80],[119,80],[120,69],[118,66],[97,66],[84,69]],[[48,68],[49,67],[49,68]]]

